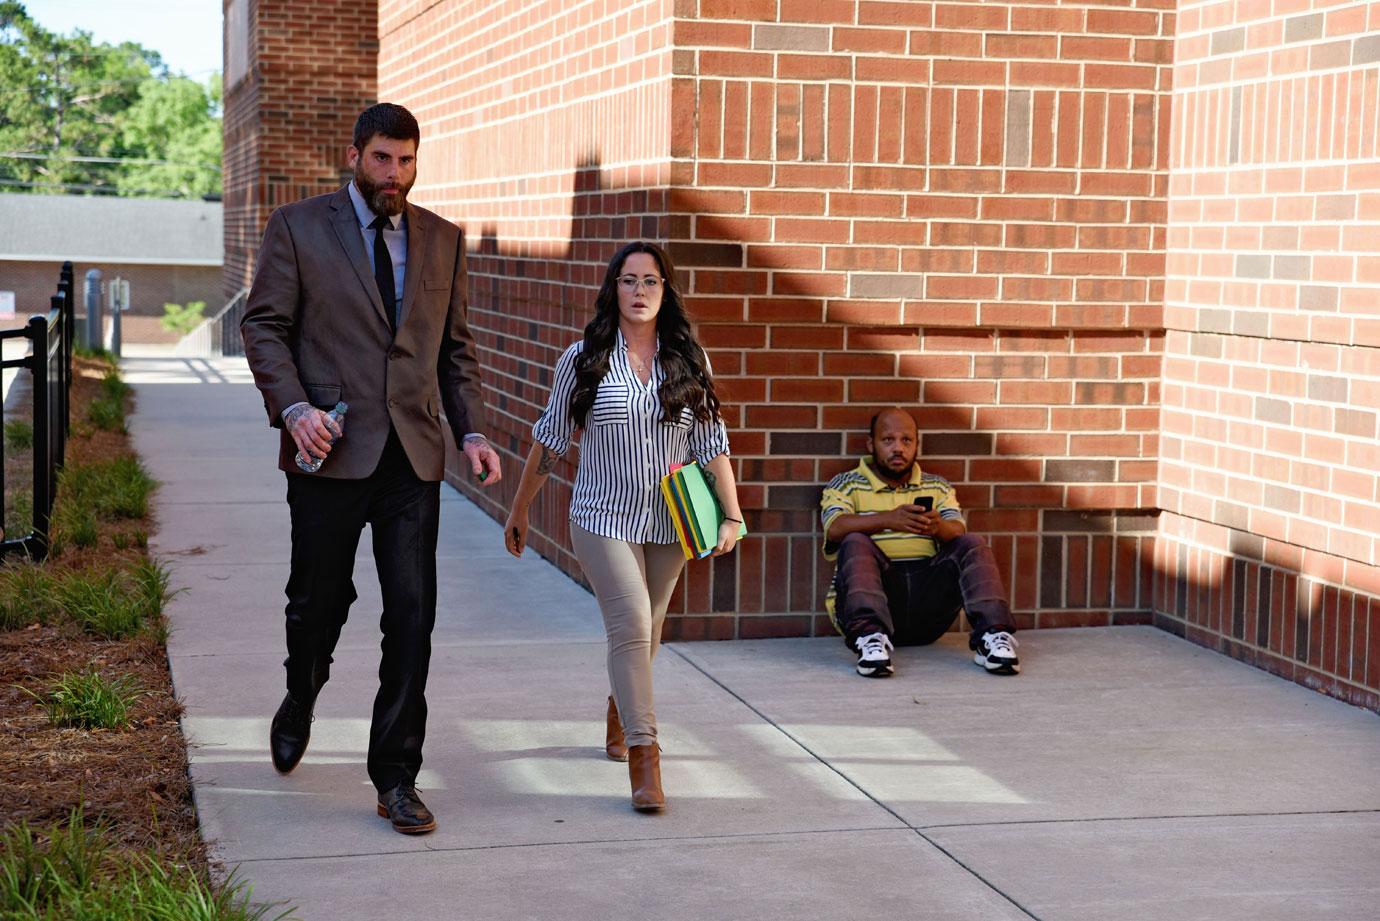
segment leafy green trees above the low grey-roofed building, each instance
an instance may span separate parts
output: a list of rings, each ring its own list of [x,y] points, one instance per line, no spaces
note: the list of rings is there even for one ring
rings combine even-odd
[[[0,189],[218,193],[219,93],[137,43],[58,36],[0,0]]]

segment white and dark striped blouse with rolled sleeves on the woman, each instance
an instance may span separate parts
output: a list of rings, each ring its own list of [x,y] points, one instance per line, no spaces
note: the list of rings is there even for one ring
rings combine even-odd
[[[570,450],[575,432],[570,395],[575,388],[575,356],[582,348],[584,341],[575,342],[556,362],[551,399],[531,427],[533,438],[558,457]],[[570,500],[571,523],[635,544],[676,541],[671,514],[661,497],[661,478],[671,464],[690,460],[707,464],[727,454],[729,434],[722,418],[701,423],[689,407],[680,410],[676,423],[661,421],[657,388],[664,380],[660,359],[653,362],[649,382],[638,380],[620,330],[618,345],[609,356],[609,373],[599,382],[580,440],[580,468]]]

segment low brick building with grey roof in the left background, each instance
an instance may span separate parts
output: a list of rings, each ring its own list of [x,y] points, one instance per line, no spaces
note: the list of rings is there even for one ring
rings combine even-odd
[[[98,195],[0,195],[0,291],[14,291],[22,326],[47,313],[58,269],[70,261],[77,313],[86,312],[83,280],[101,269],[102,282],[130,283],[130,311],[121,316],[126,342],[174,342],[159,320],[164,304],[221,297],[224,239],[219,202],[134,199]]]

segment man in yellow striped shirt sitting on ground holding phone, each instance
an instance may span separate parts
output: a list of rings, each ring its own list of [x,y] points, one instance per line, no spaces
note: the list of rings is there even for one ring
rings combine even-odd
[[[858,674],[894,671],[893,643],[927,645],[967,612],[973,661],[998,675],[1021,670],[1006,590],[987,543],[967,533],[954,487],[916,463],[915,420],[872,417],[871,457],[824,487],[824,555],[838,559],[825,601],[858,652]]]

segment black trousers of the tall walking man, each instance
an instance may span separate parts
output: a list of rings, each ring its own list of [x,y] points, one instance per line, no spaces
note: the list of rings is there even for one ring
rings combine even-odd
[[[330,464],[330,458],[326,461]],[[440,483],[413,472],[396,434],[364,479],[287,475],[293,568],[287,580],[287,689],[315,700],[355,594],[355,551],[368,523],[384,595],[382,659],[368,733],[368,777],[379,791],[415,782],[426,736],[426,671],[436,623]]]

